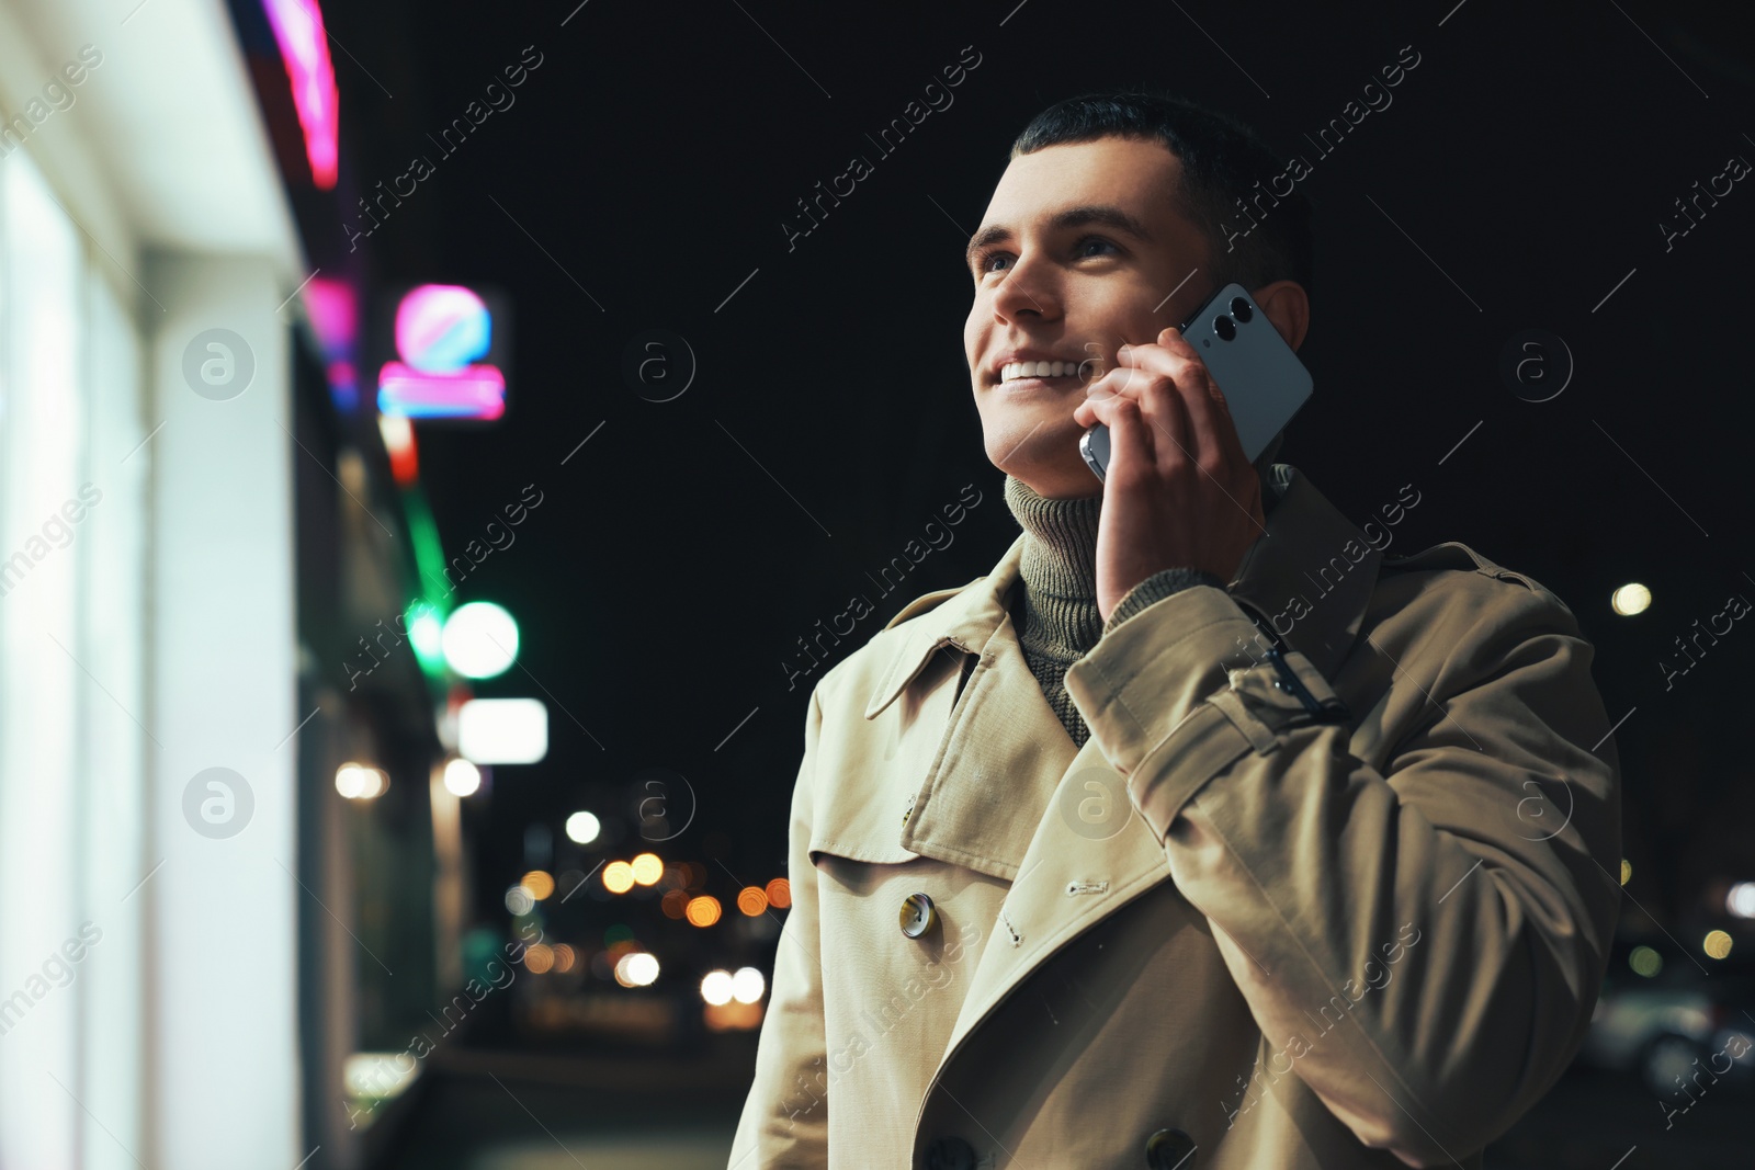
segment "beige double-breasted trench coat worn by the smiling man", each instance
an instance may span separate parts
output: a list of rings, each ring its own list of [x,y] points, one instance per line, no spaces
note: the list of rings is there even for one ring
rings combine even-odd
[[[1272,474],[1227,591],[1069,670],[1083,749],[1007,614],[1021,535],[820,679],[732,1170],[1479,1166],[1555,1082],[1620,898],[1594,649]]]

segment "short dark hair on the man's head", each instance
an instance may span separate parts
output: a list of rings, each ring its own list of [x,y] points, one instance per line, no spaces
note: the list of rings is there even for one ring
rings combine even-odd
[[[1267,189],[1286,168],[1255,130],[1165,93],[1086,93],[1057,102],[1030,119],[1011,144],[1011,158],[1097,139],[1157,140],[1181,160],[1183,182],[1172,200],[1206,237],[1218,284],[1236,281],[1257,289],[1274,281],[1297,281],[1311,291],[1309,200],[1297,186],[1290,195]],[[1265,196],[1255,191],[1257,184]],[[1244,203],[1246,218],[1239,203],[1251,195],[1260,198]]]

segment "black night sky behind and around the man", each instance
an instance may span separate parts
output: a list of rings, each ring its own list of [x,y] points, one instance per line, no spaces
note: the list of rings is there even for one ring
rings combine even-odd
[[[779,663],[855,591],[878,612],[841,654],[1006,551],[1016,526],[962,356],[962,246],[1032,114],[1127,86],[1218,105],[1313,165],[1316,395],[1279,458],[1358,523],[1413,484],[1392,553],[1462,540],[1572,607],[1611,721],[1636,709],[1616,742],[1641,903],[1674,914],[1699,879],[1755,877],[1737,735],[1755,633],[1734,628],[1669,691],[1657,665],[1730,593],[1755,598],[1729,482],[1750,386],[1727,263],[1755,254],[1755,179],[1669,251],[1657,226],[1729,156],[1755,160],[1730,5],[1014,4],[330,5],[355,182],[388,184],[416,154],[435,167],[362,240],[374,279],[493,284],[516,314],[504,423],[419,428],[449,553],[525,484],[544,493],[463,588],[525,633],[528,675],[481,693],[537,693],[534,675],[553,698],[548,761],[500,770],[491,881],[516,881],[526,821],[558,824],[588,784],[649,767],[698,796],[672,851],[700,858],[718,830],[739,875],[784,872],[821,670],[788,691]],[[965,46],[979,65],[953,105],[879,154],[867,135]],[[1302,135],[1404,46],[1420,65],[1393,103],[1318,154]],[[535,54],[516,103],[441,154],[428,135]],[[795,202],[853,154],[874,174],[788,251]],[[698,361],[670,402],[623,375],[655,328]],[[1527,328],[1576,360],[1555,400],[1497,374]],[[983,502],[956,542],[878,598],[867,572],[965,484]],[[1634,619],[1608,607],[1627,581],[1655,595]]]

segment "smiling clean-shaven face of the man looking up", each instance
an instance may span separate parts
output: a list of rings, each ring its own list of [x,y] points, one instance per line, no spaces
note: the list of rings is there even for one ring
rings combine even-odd
[[[993,189],[969,256],[963,353],[988,460],[1037,495],[1102,493],[1072,421],[1085,386],[1211,293],[1207,242],[1171,203],[1179,182],[1162,142],[1099,139],[1023,154]],[[1071,372],[1000,381],[1027,358]]]

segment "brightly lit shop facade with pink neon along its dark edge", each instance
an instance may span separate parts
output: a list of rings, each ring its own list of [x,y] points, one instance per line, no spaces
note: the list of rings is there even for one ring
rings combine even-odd
[[[423,509],[319,21],[0,7],[0,1165],[363,1165],[349,1054],[456,981],[446,682],[347,665]]]

